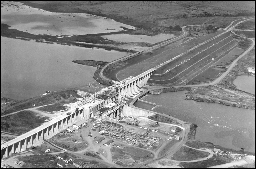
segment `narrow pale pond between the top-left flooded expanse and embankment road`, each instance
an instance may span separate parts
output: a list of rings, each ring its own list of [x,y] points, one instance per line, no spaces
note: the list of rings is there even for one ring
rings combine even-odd
[[[102,37],[109,40],[120,41],[120,42],[146,42],[146,43],[155,44],[157,42],[175,38],[176,36],[172,34],[160,33],[155,36],[118,34],[118,35],[105,35]]]

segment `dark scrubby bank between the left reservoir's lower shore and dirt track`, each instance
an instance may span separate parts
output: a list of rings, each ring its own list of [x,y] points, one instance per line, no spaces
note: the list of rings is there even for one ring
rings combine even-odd
[[[43,105],[52,104],[52,103],[61,102],[61,101],[64,102],[65,100],[70,101],[70,100],[76,99],[77,97],[80,97],[80,96],[77,95],[77,92],[75,89],[71,89],[71,88],[64,89],[64,90],[52,92],[43,96],[39,95],[34,98],[29,98],[22,101],[15,101],[14,104],[11,104],[9,107],[5,107],[5,109],[2,109],[1,115],[3,116],[19,110],[32,108],[33,104],[35,104],[36,106],[43,106]],[[6,99],[1,98],[2,104],[4,100]]]

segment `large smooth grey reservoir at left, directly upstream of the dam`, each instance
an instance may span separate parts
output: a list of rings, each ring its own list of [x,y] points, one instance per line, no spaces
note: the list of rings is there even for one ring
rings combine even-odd
[[[96,67],[72,60],[113,61],[129,53],[1,37],[1,97],[23,100],[94,81]]]

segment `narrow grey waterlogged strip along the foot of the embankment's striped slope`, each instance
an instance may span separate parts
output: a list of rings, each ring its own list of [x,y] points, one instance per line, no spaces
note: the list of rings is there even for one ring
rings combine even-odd
[[[208,69],[194,77],[188,84],[192,82],[207,82],[215,79],[221,72],[224,72],[223,69],[225,66],[230,64],[234,59],[236,59],[244,50],[240,48],[235,48],[220,60],[218,60],[214,65],[210,66]]]

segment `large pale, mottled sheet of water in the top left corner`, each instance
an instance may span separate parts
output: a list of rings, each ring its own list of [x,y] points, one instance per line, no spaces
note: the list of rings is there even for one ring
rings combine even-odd
[[[53,13],[19,2],[1,2],[1,21],[35,35],[86,35],[135,29],[113,19],[89,14]]]

